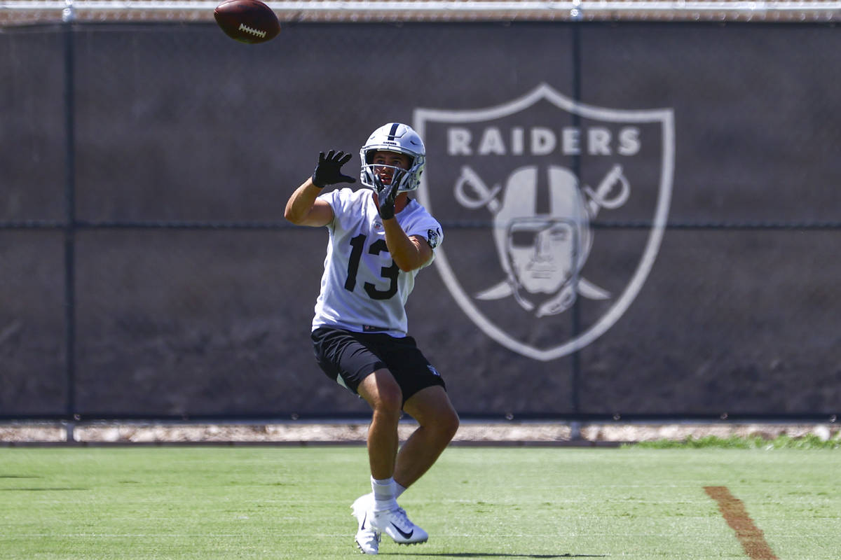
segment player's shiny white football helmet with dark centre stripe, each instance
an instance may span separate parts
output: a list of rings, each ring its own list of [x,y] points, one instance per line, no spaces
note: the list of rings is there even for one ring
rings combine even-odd
[[[400,170],[394,168],[394,179],[397,181],[397,192],[415,191],[421,184],[421,173],[426,165],[426,148],[423,140],[413,128],[401,123],[383,124],[380,128],[371,133],[368,141],[359,150],[359,159],[362,160],[362,185],[379,192],[383,184],[379,181],[374,172],[372,164],[374,152],[385,150],[406,154],[410,157],[409,169]],[[382,165],[377,165],[382,167]]]

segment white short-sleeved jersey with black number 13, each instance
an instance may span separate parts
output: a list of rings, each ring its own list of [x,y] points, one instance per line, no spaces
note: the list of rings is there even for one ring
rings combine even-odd
[[[313,329],[337,327],[406,336],[405,303],[420,269],[403,272],[394,263],[371,195],[368,189],[344,188],[319,196],[330,203],[335,217],[327,225],[330,243]],[[434,249],[443,239],[441,224],[414,200],[396,218],[407,235],[430,243],[434,259]]]

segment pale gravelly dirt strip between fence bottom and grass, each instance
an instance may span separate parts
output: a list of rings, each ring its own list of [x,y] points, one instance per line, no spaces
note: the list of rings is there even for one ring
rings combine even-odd
[[[401,422],[405,440],[417,425]],[[841,437],[841,426],[783,423],[575,423],[463,421],[454,443],[536,443],[558,445],[611,445],[657,440],[683,441],[689,437],[749,437],[773,439],[813,434],[823,441]],[[9,422],[0,424],[0,445],[31,443],[363,443],[367,422],[288,422],[243,424],[118,423],[78,424]]]

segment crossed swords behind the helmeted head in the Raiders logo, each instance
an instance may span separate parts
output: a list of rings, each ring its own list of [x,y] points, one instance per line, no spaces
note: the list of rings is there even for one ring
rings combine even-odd
[[[465,191],[466,186],[471,187],[477,196],[468,196],[468,192]],[[617,187],[618,191],[616,190]],[[482,178],[479,177],[479,174],[477,174],[468,165],[463,165],[462,173],[458,177],[456,186],[453,189],[453,194],[456,196],[458,203],[463,207],[470,209],[487,207],[492,214],[496,214],[497,212],[500,212],[501,203],[497,198],[497,195],[501,190],[501,185],[495,185],[492,188],[488,188],[484,181],[482,181]],[[587,185],[584,185],[582,190],[590,199],[587,203],[590,220],[598,215],[601,208],[614,210],[625,204],[628,197],[631,196],[631,184],[628,182],[627,177],[622,173],[622,168],[619,164],[614,165],[611,170],[607,172],[607,175],[605,175],[605,177],[600,181],[599,186],[597,186],[595,190]],[[576,290],[581,296],[590,300],[606,300],[611,296],[609,291],[600,288],[580,276],[578,284],[576,285]],[[479,292],[476,297],[480,300],[497,300],[515,294],[516,292],[513,285],[511,285],[511,281],[502,280],[499,284]]]

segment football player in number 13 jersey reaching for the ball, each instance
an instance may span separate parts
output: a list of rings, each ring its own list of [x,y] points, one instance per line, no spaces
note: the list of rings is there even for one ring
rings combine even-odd
[[[399,544],[428,535],[397,498],[436,462],[458,429],[458,414],[441,375],[408,336],[405,302],[418,271],[431,264],[443,240],[441,225],[410,194],[426,164],[421,137],[409,126],[377,128],[360,150],[361,181],[341,173],[351,154],[319,154],[315,172],[296,189],[284,216],[330,232],[312,341],[320,368],[362,397],[373,411],[368,428],[371,489],[352,505],[356,542],[376,554],[384,531]],[[418,423],[399,447],[405,411]],[[399,447],[399,448],[398,448]]]

